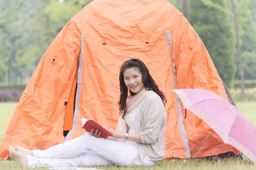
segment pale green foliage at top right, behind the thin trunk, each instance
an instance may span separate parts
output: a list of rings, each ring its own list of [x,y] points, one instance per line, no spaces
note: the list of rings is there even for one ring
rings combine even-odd
[[[238,22],[241,51],[245,79],[256,79],[256,3],[255,0],[225,0],[228,8],[216,4],[213,0],[202,0],[202,2],[220,11],[225,11],[231,17],[236,15]],[[233,5],[235,11],[233,11]],[[237,52],[237,51],[236,51]],[[240,79],[239,56],[236,53],[236,79]]]

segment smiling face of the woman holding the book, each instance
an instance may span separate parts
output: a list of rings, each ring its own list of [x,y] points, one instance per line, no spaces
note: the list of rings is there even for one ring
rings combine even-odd
[[[140,92],[143,88],[142,74],[137,68],[128,68],[124,71],[124,80],[126,87],[133,93]]]

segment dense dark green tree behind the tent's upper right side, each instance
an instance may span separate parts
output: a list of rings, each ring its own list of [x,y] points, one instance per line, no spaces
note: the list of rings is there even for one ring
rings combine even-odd
[[[224,0],[216,0],[226,6]],[[228,88],[233,86],[236,66],[234,63],[235,40],[228,15],[205,6],[201,0],[190,1],[189,21],[209,52],[218,74]]]

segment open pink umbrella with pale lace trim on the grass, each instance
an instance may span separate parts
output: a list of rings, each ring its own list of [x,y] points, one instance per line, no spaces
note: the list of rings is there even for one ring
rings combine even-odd
[[[185,109],[206,122],[224,143],[236,147],[256,164],[256,130],[236,106],[203,89],[171,91],[180,97]]]

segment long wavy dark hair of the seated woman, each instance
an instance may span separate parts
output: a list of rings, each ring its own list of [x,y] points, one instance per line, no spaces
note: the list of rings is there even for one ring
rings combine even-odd
[[[164,96],[163,92],[159,90],[159,88],[157,87],[154,79],[151,77],[151,75],[149,74],[148,68],[146,67],[146,65],[140,61],[140,59],[129,59],[128,61],[124,62],[123,65],[121,66],[120,69],[120,74],[119,74],[119,82],[120,82],[120,100],[118,102],[119,105],[119,113],[120,115],[122,114],[122,119],[125,119],[125,115],[127,112],[127,97],[128,97],[128,88],[125,85],[125,80],[124,80],[124,72],[129,69],[129,68],[137,68],[138,71],[140,72],[140,74],[142,74],[142,82],[144,85],[144,88],[147,91],[154,91],[156,94],[158,94],[158,96],[161,97],[162,101],[163,101],[163,105],[165,106],[167,99]],[[129,99],[135,95],[135,93],[133,93],[131,90],[130,91],[130,96]]]

